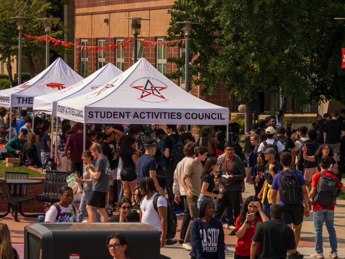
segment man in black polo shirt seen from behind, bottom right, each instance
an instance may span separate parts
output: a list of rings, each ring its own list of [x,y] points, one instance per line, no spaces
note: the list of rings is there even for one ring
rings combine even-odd
[[[274,204],[270,208],[271,220],[260,223],[252,238],[250,259],[255,259],[259,243],[259,258],[285,259],[286,253],[294,252],[296,243],[294,231],[283,223],[283,208]]]

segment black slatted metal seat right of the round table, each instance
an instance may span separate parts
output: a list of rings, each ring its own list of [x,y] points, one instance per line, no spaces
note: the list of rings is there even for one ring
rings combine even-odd
[[[70,174],[71,172],[47,170],[43,193],[36,195],[36,200],[45,202],[45,207],[49,207],[53,203],[59,202],[59,190],[61,187],[66,185],[66,177]]]

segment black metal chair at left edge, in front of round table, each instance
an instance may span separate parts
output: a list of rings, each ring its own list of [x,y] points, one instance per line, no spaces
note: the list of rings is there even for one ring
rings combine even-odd
[[[8,206],[12,206],[12,215],[14,221],[17,221],[18,218],[18,206],[22,206],[23,204],[33,204],[36,202],[34,198],[27,197],[25,195],[13,197],[13,193],[8,187],[6,180],[0,179],[0,190],[2,198],[8,203]]]

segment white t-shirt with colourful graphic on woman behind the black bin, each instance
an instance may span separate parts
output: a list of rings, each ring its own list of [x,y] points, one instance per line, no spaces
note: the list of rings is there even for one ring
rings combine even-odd
[[[79,221],[79,213],[76,209],[76,215],[72,205],[68,206],[68,208],[62,207],[59,203],[61,212],[58,220],[56,220],[56,216],[58,214],[58,210],[55,206],[50,206],[50,209],[46,212],[46,218],[44,222],[52,222],[52,223],[73,223]]]

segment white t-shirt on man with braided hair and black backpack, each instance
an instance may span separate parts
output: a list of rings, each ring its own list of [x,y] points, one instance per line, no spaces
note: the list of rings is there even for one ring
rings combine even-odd
[[[152,195],[152,197],[149,200],[147,200],[145,196],[144,199],[142,199],[142,201],[140,202],[140,210],[142,212],[141,223],[145,223],[147,225],[154,227],[158,231],[162,231],[160,225],[160,217],[158,215],[158,212],[153,207],[153,199],[156,195],[158,195],[157,192],[154,193],[154,195]],[[167,200],[163,196],[159,196],[157,200],[157,208],[161,206],[168,206]]]

